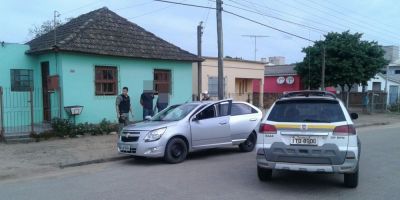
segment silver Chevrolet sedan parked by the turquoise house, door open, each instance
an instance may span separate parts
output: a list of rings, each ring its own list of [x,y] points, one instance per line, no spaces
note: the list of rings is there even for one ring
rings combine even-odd
[[[238,145],[253,151],[261,111],[232,100],[191,102],[170,106],[151,119],[126,126],[118,151],[141,157],[164,157],[179,163],[200,149]]]

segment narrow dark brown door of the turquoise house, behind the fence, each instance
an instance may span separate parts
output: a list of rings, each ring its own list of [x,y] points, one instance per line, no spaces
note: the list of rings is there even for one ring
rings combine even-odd
[[[50,93],[48,92],[47,77],[49,76],[49,62],[41,63],[42,69],[42,95],[43,95],[43,120],[51,120]]]

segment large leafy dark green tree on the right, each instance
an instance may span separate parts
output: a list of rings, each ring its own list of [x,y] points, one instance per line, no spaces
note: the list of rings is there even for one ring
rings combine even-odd
[[[363,85],[381,71],[389,62],[377,42],[361,40],[362,34],[331,32],[325,40],[316,41],[313,46],[303,48],[306,54],[295,70],[302,77],[303,84],[310,89],[321,85],[323,47],[325,47],[325,85],[340,86],[350,91],[354,84]]]

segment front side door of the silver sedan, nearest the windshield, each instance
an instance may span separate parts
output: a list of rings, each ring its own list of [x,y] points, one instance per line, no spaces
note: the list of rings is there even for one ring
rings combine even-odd
[[[222,104],[228,104],[223,109]],[[207,106],[190,120],[193,148],[209,148],[232,144],[229,113],[231,101]],[[224,106],[226,108],[226,106]]]

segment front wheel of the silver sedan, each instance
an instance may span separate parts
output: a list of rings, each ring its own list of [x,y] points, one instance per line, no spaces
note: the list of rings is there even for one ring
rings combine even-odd
[[[165,148],[164,160],[167,163],[180,163],[186,159],[188,153],[187,145],[181,138],[172,138]]]

